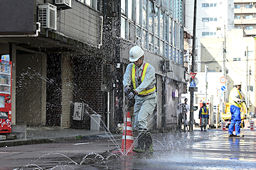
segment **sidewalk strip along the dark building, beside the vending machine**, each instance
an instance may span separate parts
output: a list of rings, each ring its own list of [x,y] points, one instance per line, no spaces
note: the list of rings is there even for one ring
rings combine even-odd
[[[11,147],[17,145],[31,145],[47,142],[58,142],[63,140],[78,140],[78,139],[97,139],[108,137],[109,134],[102,130],[82,130],[82,129],[63,129],[60,127],[27,127],[26,139],[16,140],[0,140],[0,147]],[[122,137],[122,134],[114,134],[114,136]]]

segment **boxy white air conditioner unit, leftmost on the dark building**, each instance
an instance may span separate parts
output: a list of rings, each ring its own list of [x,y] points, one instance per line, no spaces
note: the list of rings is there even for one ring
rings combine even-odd
[[[52,4],[38,5],[38,21],[41,28],[57,30],[57,7]]]

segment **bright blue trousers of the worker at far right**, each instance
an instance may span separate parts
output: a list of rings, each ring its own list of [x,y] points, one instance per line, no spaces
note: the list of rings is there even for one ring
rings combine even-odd
[[[230,113],[231,113],[231,122],[228,126],[228,135],[233,134],[234,125],[235,125],[235,135],[240,134],[240,123],[241,123],[241,116],[240,116],[240,108],[238,106],[230,106]]]

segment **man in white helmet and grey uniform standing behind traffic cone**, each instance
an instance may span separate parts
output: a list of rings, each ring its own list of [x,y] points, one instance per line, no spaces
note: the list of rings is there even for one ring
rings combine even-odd
[[[139,136],[138,147],[133,150],[152,152],[152,138],[147,127],[147,119],[156,107],[155,69],[144,61],[144,51],[137,45],[129,51],[129,61],[132,63],[128,64],[125,70],[123,84],[127,98],[135,98],[133,125],[139,130]]]

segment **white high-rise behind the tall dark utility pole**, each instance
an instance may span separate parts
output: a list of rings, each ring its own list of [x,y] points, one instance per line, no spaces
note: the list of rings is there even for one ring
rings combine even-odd
[[[196,6],[196,48],[197,57],[195,72],[203,72],[201,69],[201,38],[220,38],[228,35],[228,31],[234,28],[234,4],[233,0],[198,0]],[[193,33],[193,9],[194,0],[186,1],[185,27]]]

